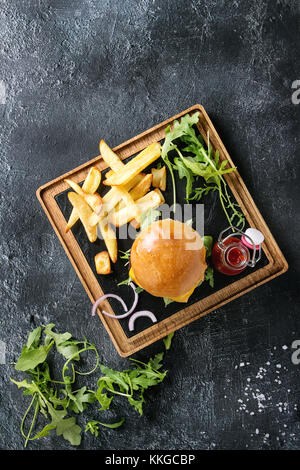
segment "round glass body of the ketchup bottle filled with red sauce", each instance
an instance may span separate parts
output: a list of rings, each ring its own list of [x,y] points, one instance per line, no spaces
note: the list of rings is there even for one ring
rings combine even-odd
[[[215,269],[229,276],[244,271],[249,259],[248,248],[236,237],[229,237],[225,241],[215,243],[212,250],[212,262]]]

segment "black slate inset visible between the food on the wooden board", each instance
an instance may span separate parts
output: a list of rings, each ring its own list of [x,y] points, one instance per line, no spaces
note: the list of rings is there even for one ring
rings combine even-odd
[[[161,141],[161,145],[163,145],[163,140]],[[170,156],[170,158],[172,158]],[[131,158],[124,160],[127,163]],[[157,162],[153,165],[150,165],[147,168],[147,173],[150,173],[150,169],[152,167],[156,167]],[[107,170],[103,171],[102,181],[104,179],[104,175]],[[219,196],[217,192],[209,194],[207,197],[203,197],[199,203],[190,202],[189,204],[186,203],[186,180],[180,180],[178,177],[178,173],[174,172],[175,178],[175,185],[176,185],[176,201],[177,204],[182,208],[182,210],[178,209],[174,212],[169,211],[169,208],[173,205],[173,185],[171,181],[170,174],[168,173],[167,177],[167,186],[166,191],[163,192],[163,196],[165,199],[165,205],[160,206],[158,208],[159,212],[161,213],[160,218],[174,218],[179,221],[191,221],[192,226],[194,228],[199,227],[199,233],[201,236],[209,235],[213,239],[213,244],[218,241],[219,233],[225,230],[229,222],[226,219],[226,216],[223,212],[221,204],[219,203]],[[200,180],[201,181],[201,180]],[[197,183],[195,182],[197,186]],[[98,193],[103,195],[107,191],[105,190],[105,186],[100,184],[98,188]],[[235,199],[233,194],[230,191],[230,188],[227,187],[228,194],[230,195],[231,200],[234,202]],[[68,193],[70,192],[69,189],[63,191],[62,193],[55,196],[56,203],[60,208],[63,216],[66,220],[69,219],[70,214],[72,212],[72,205],[68,199]],[[166,212],[167,210],[167,212]],[[188,218],[190,217],[190,218]],[[199,220],[198,220],[199,218]],[[237,223],[237,218],[234,219],[233,223]],[[197,225],[196,225],[197,224]],[[200,230],[201,227],[201,230]],[[245,224],[244,230],[249,227],[247,223],[247,219],[245,217]],[[229,228],[229,227],[228,227]],[[243,228],[243,227],[241,227]],[[123,227],[124,230],[124,227]],[[106,250],[105,243],[102,239],[96,240],[94,243],[90,243],[84,231],[84,228],[81,223],[77,223],[73,228],[73,235],[76,238],[76,241],[79,245],[79,249],[83,252],[89,266],[91,267],[96,279],[102,288],[104,294],[115,294],[121,295],[122,299],[125,301],[125,304],[130,308],[132,305],[134,295],[132,292],[132,288],[129,286],[120,286],[119,283],[123,282],[124,280],[128,279],[129,276],[129,268],[130,263],[128,260],[124,260],[121,258],[122,253],[128,252],[131,249],[133,241],[135,237],[140,232],[132,231],[129,232],[130,236],[124,237],[121,233],[121,237],[119,236],[118,229],[116,230],[117,239],[118,239],[118,250],[119,250],[119,257],[115,264],[112,264],[112,273],[107,276],[98,275],[96,272],[95,261],[94,257],[100,251]],[[124,233],[124,232],[123,232]],[[229,232],[226,233],[226,236],[229,235]],[[238,237],[240,238],[240,237]],[[253,251],[250,250],[250,256],[253,256]],[[255,259],[258,260],[258,252],[255,254]],[[210,284],[206,281],[201,284],[198,288],[196,288],[189,298],[187,303],[179,303],[179,302],[172,302],[168,305],[165,305],[163,298],[154,297],[150,295],[148,292],[143,291],[139,293],[139,300],[136,310],[150,310],[156,316],[157,322],[160,322],[176,312],[193,305],[195,302],[199,302],[200,300],[208,297],[213,292],[217,292],[220,289],[230,285],[232,282],[242,279],[243,277],[249,275],[250,273],[260,269],[268,264],[268,259],[265,256],[263,250],[261,251],[261,259],[257,262],[254,267],[248,266],[242,273],[235,276],[224,276],[223,274],[218,273],[214,270],[214,279],[213,283],[214,286],[210,286]],[[211,257],[207,258],[207,264],[212,266]],[[110,299],[110,303],[116,315],[122,315],[124,313],[124,309],[120,302],[116,299]],[[145,331],[147,328],[153,325],[152,321],[149,318],[140,318],[135,322],[134,330],[129,330],[128,325],[129,318],[124,318],[120,320],[121,327],[128,338],[132,338],[136,334]]]

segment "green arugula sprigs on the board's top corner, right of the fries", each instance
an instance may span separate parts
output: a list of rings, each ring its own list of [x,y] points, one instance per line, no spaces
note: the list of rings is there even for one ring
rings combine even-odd
[[[221,162],[218,150],[213,155],[209,132],[207,133],[207,146],[203,137],[196,135],[194,126],[198,120],[199,113],[194,113],[192,116],[187,114],[180,121],[175,120],[172,129],[168,126],[165,131],[161,156],[171,173],[174,207],[176,204],[174,171],[178,171],[179,178],[186,178],[187,201],[200,201],[209,192],[217,191],[229,224],[243,229],[245,217],[239,210],[238,204],[232,201],[224,178],[225,174],[235,171],[236,168],[228,168],[227,160]],[[182,149],[179,148],[179,144],[183,146]],[[177,154],[176,157],[173,156],[173,159],[172,152]],[[204,179],[204,185],[194,188],[199,178]]]

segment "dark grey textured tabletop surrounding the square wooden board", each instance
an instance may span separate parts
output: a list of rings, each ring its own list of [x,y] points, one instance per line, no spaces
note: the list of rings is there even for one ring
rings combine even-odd
[[[299,19],[299,2],[287,0],[0,0],[2,449],[23,446],[27,399],[9,382],[10,362],[33,327],[54,322],[94,341],[106,365],[129,363],[90,321],[36,189],[96,156],[100,138],[115,146],[195,103],[290,269],[177,332],[144,416],[119,400],[107,417],[124,415],[124,426],[84,435],[81,448],[299,449]],[[70,447],[55,436],[30,444]]]

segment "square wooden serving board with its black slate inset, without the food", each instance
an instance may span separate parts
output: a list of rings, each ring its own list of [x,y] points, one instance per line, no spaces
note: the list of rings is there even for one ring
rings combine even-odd
[[[228,160],[229,165],[234,166],[203,106],[198,104],[192,106],[189,109],[186,109],[176,116],[171,117],[167,121],[152,127],[146,132],[137,135],[133,139],[124,142],[123,144],[114,148],[114,151],[122,160],[130,158],[152,142],[163,140],[165,128],[171,124],[174,119],[178,119],[187,113],[194,113],[196,111],[200,112],[198,129],[204,139],[206,140],[207,131],[209,130],[210,143],[213,149],[219,150],[220,160]],[[91,245],[93,246],[95,244],[89,244],[89,242],[87,242],[83,230],[77,228],[69,231],[68,233],[65,232],[69,215],[68,211],[70,212],[71,208],[67,208],[66,203],[64,202],[67,200],[66,194],[70,189],[64,182],[64,179],[68,177],[72,178],[77,183],[81,183],[84,181],[88,170],[92,166],[97,166],[101,171],[105,171],[107,169],[107,165],[101,156],[97,156],[96,158],[89,160],[87,163],[75,168],[74,170],[41,186],[37,190],[37,197],[60,242],[62,243],[77,275],[79,276],[91,302],[94,303],[96,299],[103,295],[103,293],[112,292],[111,288],[113,288],[115,292],[116,289],[120,289],[117,287],[117,282],[120,280],[120,274],[117,272],[116,276],[119,277],[112,276],[110,278],[97,276],[92,261],[94,253],[91,251]],[[268,226],[257,209],[238,171],[236,170],[225,175],[225,179],[232,192],[232,195],[235,197],[244,215],[246,216],[247,224],[257,228],[265,236],[265,241],[262,246],[262,262],[260,262],[255,269],[251,270],[251,268],[247,268],[247,270],[242,273],[242,275],[236,277],[222,277],[222,275],[217,273],[215,288],[211,289],[205,287],[202,289],[201,286],[201,288],[197,289],[197,291],[200,291],[200,295],[199,293],[195,295],[193,294],[187,304],[179,304],[174,302],[165,309],[163,303],[158,304],[158,301],[162,302],[162,299],[154,298],[147,293],[142,293],[142,296],[144,297],[142,297],[141,303],[144,303],[144,305],[140,305],[139,302],[138,310],[152,310],[156,314],[158,322],[155,324],[151,323],[151,326],[149,326],[149,321],[148,323],[146,322],[141,324],[140,329],[134,334],[128,333],[128,329],[126,330],[124,322],[120,322],[118,320],[114,320],[113,318],[102,315],[99,309],[98,315],[108,334],[110,335],[118,353],[121,356],[127,357],[135,353],[149,344],[165,337],[169,333],[178,330],[179,328],[187,325],[188,323],[191,323],[199,317],[216,310],[231,300],[249,292],[251,289],[254,289],[259,285],[270,281],[274,277],[283,274],[288,269],[288,264],[282,252],[280,251]],[[221,217],[222,216],[220,215],[220,217],[216,217],[215,220],[220,219]],[[217,225],[218,224],[216,224],[216,230],[218,230],[218,232],[220,229],[226,228],[228,223],[226,223],[225,217],[221,225],[219,227]],[[218,232],[215,231],[214,233],[214,241],[216,241]],[[209,235],[211,233],[206,234]],[[93,249],[95,250],[95,248]],[[105,249],[105,247],[103,246],[102,249]],[[97,249],[97,242],[96,250],[101,251],[101,249]],[[118,264],[115,265],[116,271],[118,271],[118,269],[122,270],[122,268],[119,266],[120,265]],[[218,278],[218,276],[220,277]],[[126,277],[123,277],[123,279],[125,278]],[[123,289],[125,289],[125,287],[123,287]],[[130,290],[130,287],[126,287],[126,289]],[[120,292],[120,295],[122,295],[122,292]],[[129,295],[129,300],[128,303],[127,300],[125,300],[125,302],[128,306],[130,306],[132,297],[130,297],[130,294],[128,293],[126,295]],[[150,308],[150,306],[152,308]],[[117,307],[115,307],[113,310],[111,304],[108,301],[104,302],[103,307],[109,313],[123,313],[122,310],[117,311]]]

